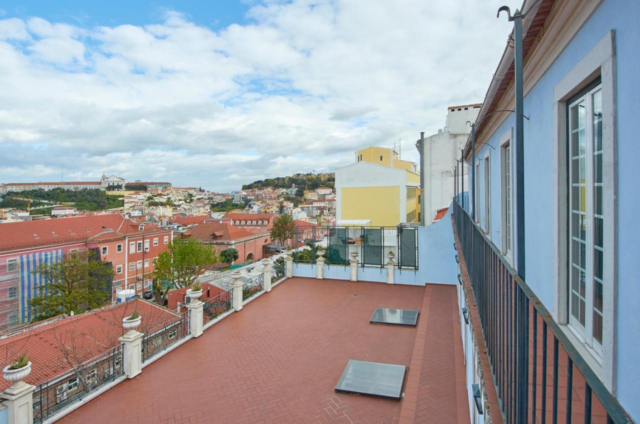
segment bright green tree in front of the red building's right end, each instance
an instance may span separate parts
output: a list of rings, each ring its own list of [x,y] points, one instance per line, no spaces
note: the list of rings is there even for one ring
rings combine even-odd
[[[210,245],[190,238],[171,241],[168,249],[154,259],[156,281],[153,291],[156,302],[162,304],[166,293],[173,287],[191,286],[207,267],[216,263],[218,255]]]

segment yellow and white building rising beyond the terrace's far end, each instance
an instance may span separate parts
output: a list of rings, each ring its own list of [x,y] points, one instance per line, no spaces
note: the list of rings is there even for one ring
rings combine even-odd
[[[420,174],[397,152],[367,147],[335,170],[337,224],[396,226],[420,222]]]

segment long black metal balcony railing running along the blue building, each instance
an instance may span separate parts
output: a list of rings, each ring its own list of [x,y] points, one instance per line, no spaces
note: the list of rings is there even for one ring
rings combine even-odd
[[[632,423],[531,288],[458,202],[456,233],[508,423]],[[477,328],[477,327],[476,327]]]

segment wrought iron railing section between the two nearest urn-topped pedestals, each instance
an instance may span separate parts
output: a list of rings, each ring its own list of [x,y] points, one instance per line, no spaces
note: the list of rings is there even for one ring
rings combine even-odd
[[[120,377],[124,372],[123,348],[123,345],[118,345],[106,355],[84,361],[71,370],[38,384],[33,391],[33,422],[42,423],[52,414]]]

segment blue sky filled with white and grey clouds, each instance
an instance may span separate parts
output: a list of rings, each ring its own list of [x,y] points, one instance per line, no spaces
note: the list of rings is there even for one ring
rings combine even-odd
[[[520,3],[3,1],[0,183],[229,191],[399,140],[417,161],[447,106],[483,100]]]

